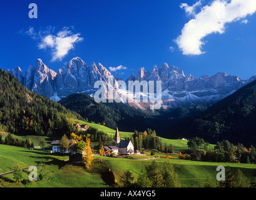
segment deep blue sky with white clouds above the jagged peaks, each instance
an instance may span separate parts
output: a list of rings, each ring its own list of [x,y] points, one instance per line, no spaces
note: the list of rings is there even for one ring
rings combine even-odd
[[[38,18],[30,19],[30,3]],[[255,0],[1,1],[0,68],[41,58],[58,71],[78,56],[128,78],[168,63],[196,78],[256,75]],[[116,69],[116,70],[115,70]]]

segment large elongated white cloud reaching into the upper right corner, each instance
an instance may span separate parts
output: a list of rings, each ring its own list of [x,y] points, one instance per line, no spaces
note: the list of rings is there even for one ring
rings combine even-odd
[[[205,36],[222,34],[227,23],[242,20],[255,11],[255,0],[213,0],[184,25],[182,34],[176,39],[178,47],[186,55],[203,54]]]

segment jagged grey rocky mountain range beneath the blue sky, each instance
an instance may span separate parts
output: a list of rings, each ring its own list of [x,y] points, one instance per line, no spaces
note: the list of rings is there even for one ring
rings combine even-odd
[[[49,69],[41,59],[37,59],[36,67],[29,66],[24,76],[19,67],[7,71],[18,78],[29,90],[54,101],[59,101],[74,93],[86,93],[93,96],[96,91],[94,88],[96,81],[105,81],[106,88],[113,88],[108,83],[108,79],[112,79],[115,85],[116,81],[120,80],[120,78],[115,78],[101,63],[98,65],[91,63],[88,66],[78,57],[71,59],[57,73]],[[162,81],[161,105],[162,108],[166,109],[191,104],[212,105],[255,79],[256,76],[245,80],[226,73],[217,73],[213,76],[204,75],[197,79],[191,74],[185,76],[181,69],[176,66],[169,67],[167,63],[164,63],[159,69],[157,66],[153,66],[151,71],[140,68],[136,76],[131,74],[125,82]],[[118,86],[113,90],[126,93],[126,91],[121,91],[122,89]],[[131,95],[133,99],[136,96],[136,94]],[[111,99],[113,96],[106,93],[106,98]],[[122,101],[122,99],[120,100]],[[145,110],[149,108],[151,103],[142,103],[141,101],[141,103],[128,104]]]

